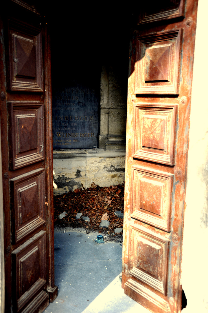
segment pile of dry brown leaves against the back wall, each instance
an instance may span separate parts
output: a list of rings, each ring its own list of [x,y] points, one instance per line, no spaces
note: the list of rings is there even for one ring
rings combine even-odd
[[[82,227],[87,230],[99,230],[101,219],[110,222],[108,233],[113,233],[115,228],[123,228],[123,219],[118,218],[114,212],[123,213],[124,184],[110,187],[99,187],[94,182],[92,187],[83,187],[54,197],[54,225],[62,227]],[[62,219],[58,215],[66,212]],[[77,213],[90,218],[90,222],[77,220]]]

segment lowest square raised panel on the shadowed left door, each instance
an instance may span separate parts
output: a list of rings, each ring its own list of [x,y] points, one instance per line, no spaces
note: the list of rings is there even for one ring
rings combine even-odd
[[[40,231],[12,252],[17,311],[46,285],[46,232]],[[15,299],[16,302],[16,299]]]

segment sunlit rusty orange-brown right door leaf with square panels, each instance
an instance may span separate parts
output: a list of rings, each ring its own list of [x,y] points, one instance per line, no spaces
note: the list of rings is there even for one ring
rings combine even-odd
[[[197,1],[162,3],[135,12],[130,44],[122,287],[176,313]]]

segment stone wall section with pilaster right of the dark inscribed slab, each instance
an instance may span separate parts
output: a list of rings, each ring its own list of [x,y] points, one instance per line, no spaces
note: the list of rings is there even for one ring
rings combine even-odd
[[[99,147],[106,150],[125,149],[127,75],[120,70],[102,66]]]

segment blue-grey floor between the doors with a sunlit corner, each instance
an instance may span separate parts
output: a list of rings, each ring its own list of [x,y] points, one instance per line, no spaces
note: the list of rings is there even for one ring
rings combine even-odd
[[[45,313],[149,313],[124,294],[119,280],[122,243],[97,244],[99,233],[55,228],[55,284],[58,296]]]

